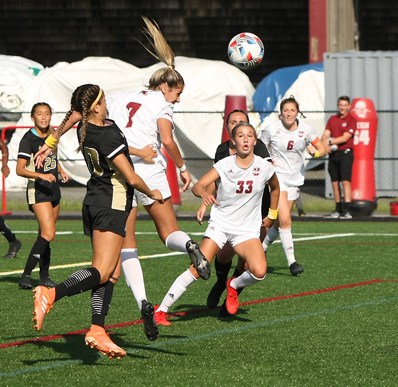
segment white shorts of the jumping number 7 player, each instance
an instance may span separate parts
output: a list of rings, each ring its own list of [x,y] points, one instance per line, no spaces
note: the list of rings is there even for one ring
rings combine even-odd
[[[167,199],[171,196],[171,190],[167,181],[166,167],[164,164],[161,162],[156,162],[155,164],[134,163],[134,170],[151,190],[158,189],[163,199]],[[155,200],[149,198],[142,192],[134,190],[133,207],[138,206],[138,201],[144,206],[155,202]]]

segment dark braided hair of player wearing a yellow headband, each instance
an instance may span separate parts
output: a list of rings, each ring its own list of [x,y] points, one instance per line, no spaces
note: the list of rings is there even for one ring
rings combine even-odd
[[[66,113],[65,118],[58,127],[57,143],[61,137],[65,123],[68,121],[71,114],[76,111],[83,117],[80,121],[81,126],[78,134],[79,147],[76,151],[78,152],[81,150],[86,134],[87,114],[90,111],[91,105],[97,99],[100,91],[101,89],[99,86],[91,84],[81,85],[75,89],[70,100],[70,110]],[[101,101],[101,99],[99,101]]]

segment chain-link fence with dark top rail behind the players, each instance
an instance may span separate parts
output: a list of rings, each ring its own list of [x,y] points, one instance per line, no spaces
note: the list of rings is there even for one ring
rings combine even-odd
[[[306,118],[302,119],[313,125],[321,137],[327,120],[333,114],[336,114],[336,112],[305,112]],[[63,114],[60,115],[62,116]],[[389,202],[398,196],[398,151],[396,150],[398,149],[398,131],[395,129],[398,127],[398,111],[378,111],[377,115],[378,129],[374,160],[376,195],[378,198],[387,198],[386,200]],[[21,116],[27,116],[27,114],[7,113],[5,115],[0,113],[0,129],[9,126],[31,125],[30,120],[28,121],[26,117],[25,120],[21,120]],[[278,119],[278,113],[250,112],[249,118],[252,125],[256,128],[257,134],[260,135],[263,127]],[[195,182],[208,172],[213,164],[215,150],[222,138],[224,112],[175,112],[174,122],[174,137],[181,149],[192,180]],[[28,129],[7,129],[3,133],[5,142],[9,145],[9,167],[11,170],[11,178],[9,177],[5,182],[7,210],[27,208],[26,183],[19,187],[13,187],[12,184],[13,175],[16,175],[15,166],[19,143],[18,141],[13,141],[13,136],[16,131],[23,131],[24,133],[26,130]],[[60,155],[58,159],[61,164],[67,163],[70,166],[69,168],[73,169],[74,165],[77,166],[79,164],[81,169],[81,154],[74,153],[74,156],[69,156],[67,160]],[[306,180],[304,186],[301,187],[301,198],[304,207],[309,207],[313,211],[329,211],[334,206],[333,192],[327,172],[327,159],[325,157],[306,161]],[[77,207],[81,204],[85,186],[72,180],[65,185],[62,184],[61,192],[63,209],[74,208],[73,203]],[[3,193],[4,197],[5,194]],[[197,200],[191,193],[186,193],[181,197],[182,204],[186,204],[188,207],[189,204],[193,206],[197,204]],[[4,208],[5,205],[3,203]]]

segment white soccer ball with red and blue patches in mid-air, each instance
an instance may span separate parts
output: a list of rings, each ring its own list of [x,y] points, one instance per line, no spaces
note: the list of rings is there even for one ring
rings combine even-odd
[[[242,32],[234,36],[228,45],[231,63],[242,70],[257,66],[264,56],[264,45],[258,36]]]

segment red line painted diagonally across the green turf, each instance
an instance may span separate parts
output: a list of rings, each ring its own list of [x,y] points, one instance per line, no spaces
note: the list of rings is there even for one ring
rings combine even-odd
[[[256,304],[256,303],[278,301],[278,300],[287,299],[287,298],[303,297],[303,296],[306,296],[306,295],[327,293],[327,292],[331,292],[331,291],[335,291],[335,290],[347,289],[347,288],[356,287],[356,286],[371,285],[373,283],[386,282],[386,281],[396,282],[398,280],[397,279],[373,279],[371,281],[363,281],[363,282],[358,282],[358,283],[349,283],[347,285],[339,285],[339,286],[327,287],[325,289],[304,291],[302,293],[278,295],[276,297],[256,299],[256,300],[253,300],[253,301],[242,302],[239,305],[240,306],[244,306],[244,305],[252,305],[252,304]],[[215,309],[219,309],[220,307],[221,306],[218,306]],[[209,311],[212,311],[212,310],[214,310],[214,309],[209,309],[209,308],[194,309],[193,311],[177,312],[177,313],[168,314],[167,316],[168,317],[181,317],[181,316],[193,315],[193,314],[197,314],[197,313],[209,312]],[[106,329],[123,328],[123,327],[129,327],[129,326],[137,325],[137,324],[142,324],[142,319],[141,320],[135,320],[135,321],[127,321],[125,323],[107,325],[105,328]],[[43,341],[55,340],[55,339],[62,339],[62,338],[67,337],[67,336],[82,335],[82,334],[87,333],[87,332],[88,332],[88,329],[80,329],[78,331],[67,332],[67,333],[64,333],[62,335],[49,335],[49,336],[39,337],[39,338],[36,338],[36,339],[14,341],[12,343],[0,344],[0,348],[17,347],[19,345],[38,343],[38,342],[43,342]]]

